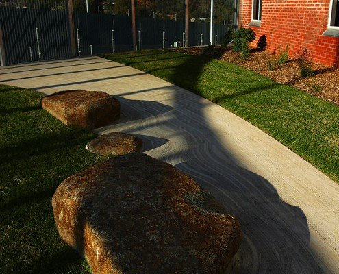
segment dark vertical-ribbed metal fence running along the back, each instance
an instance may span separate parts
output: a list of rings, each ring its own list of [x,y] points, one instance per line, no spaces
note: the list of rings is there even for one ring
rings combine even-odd
[[[134,49],[131,17],[71,12],[66,0],[26,0],[28,5],[0,5],[1,65],[55,60]],[[10,2],[7,2],[10,3]],[[12,2],[13,3],[13,2]],[[47,2],[46,2],[47,3]],[[1,2],[0,2],[1,4]],[[234,16],[214,24],[216,44]],[[184,45],[184,21],[136,18],[136,48],[160,49]],[[72,51],[72,36],[76,51]],[[208,45],[210,23],[190,22],[189,46]]]

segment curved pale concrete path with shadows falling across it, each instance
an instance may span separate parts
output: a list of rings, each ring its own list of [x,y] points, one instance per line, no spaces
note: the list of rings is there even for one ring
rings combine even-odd
[[[142,71],[92,57],[0,69],[0,84],[103,90],[145,153],[192,177],[242,224],[234,273],[339,273],[339,185],[253,125]]]

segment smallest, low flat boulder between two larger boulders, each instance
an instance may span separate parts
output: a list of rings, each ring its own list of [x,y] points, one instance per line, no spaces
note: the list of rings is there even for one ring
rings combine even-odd
[[[139,152],[141,147],[141,138],[121,132],[103,134],[86,145],[90,153],[99,155],[125,155]]]

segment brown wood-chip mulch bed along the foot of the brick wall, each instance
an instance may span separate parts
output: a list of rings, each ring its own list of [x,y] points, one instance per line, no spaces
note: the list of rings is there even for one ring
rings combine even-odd
[[[310,93],[318,98],[331,101],[339,105],[339,69],[323,64],[312,64],[314,75],[303,78],[300,75],[296,59],[289,59],[284,64],[277,64],[278,54],[268,51],[251,50],[247,60],[240,58],[240,54],[231,50],[231,47],[191,47],[174,49],[189,55],[204,55],[210,58],[224,60],[243,66],[269,77],[276,82],[286,84]],[[271,68],[268,63],[271,62]],[[273,67],[272,67],[273,66]]]

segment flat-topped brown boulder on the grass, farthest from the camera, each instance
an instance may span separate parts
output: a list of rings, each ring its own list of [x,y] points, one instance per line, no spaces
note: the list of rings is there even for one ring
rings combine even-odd
[[[43,97],[42,108],[66,125],[95,129],[120,116],[120,103],[102,91],[66,90]]]

